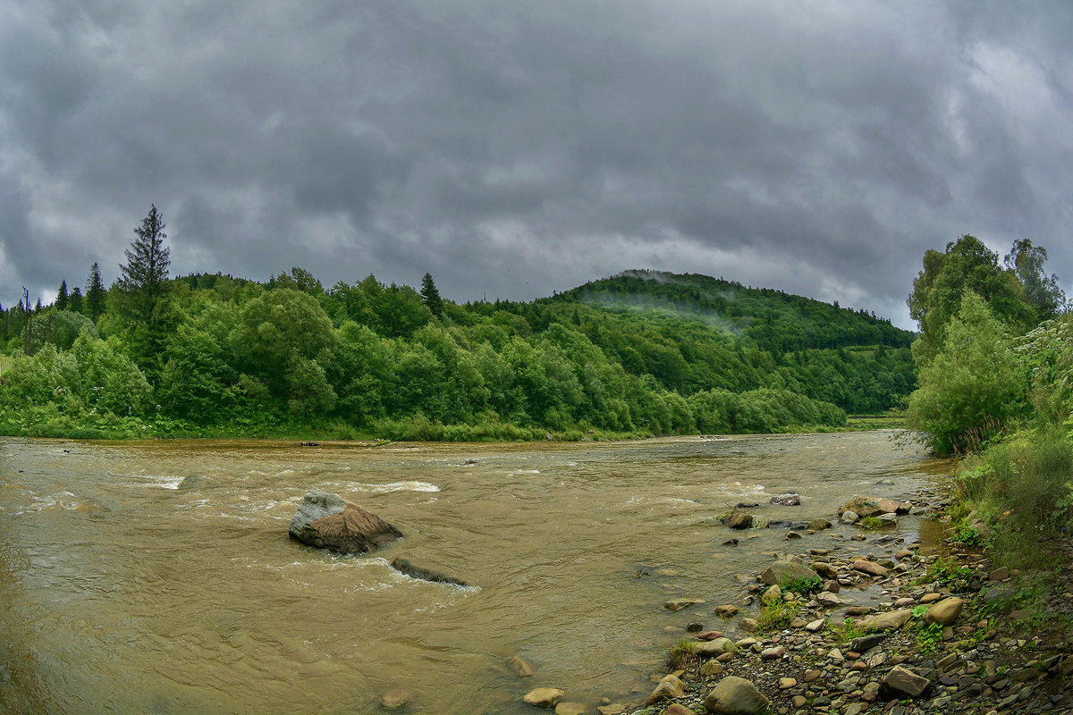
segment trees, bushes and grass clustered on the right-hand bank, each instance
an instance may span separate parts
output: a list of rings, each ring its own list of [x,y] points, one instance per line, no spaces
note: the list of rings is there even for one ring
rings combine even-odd
[[[1073,526],[1073,313],[1046,251],[998,256],[971,236],[929,251],[910,309],[920,388],[907,424],[965,459],[955,538],[1012,567],[1048,567]]]

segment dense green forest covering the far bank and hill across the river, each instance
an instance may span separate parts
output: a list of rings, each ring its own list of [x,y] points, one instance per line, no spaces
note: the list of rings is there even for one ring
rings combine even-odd
[[[835,429],[915,386],[888,321],[700,275],[633,271],[529,303],[369,275],[325,289],[170,278],[163,219],[120,279],[0,310],[0,433],[602,438]]]

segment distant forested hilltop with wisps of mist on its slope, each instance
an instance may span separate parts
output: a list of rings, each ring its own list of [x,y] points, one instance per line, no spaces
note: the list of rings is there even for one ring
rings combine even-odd
[[[914,333],[874,313],[839,308],[734,281],[651,270],[629,270],[592,281],[553,300],[575,300],[612,311],[652,311],[699,319],[771,353],[812,347],[909,347]]]

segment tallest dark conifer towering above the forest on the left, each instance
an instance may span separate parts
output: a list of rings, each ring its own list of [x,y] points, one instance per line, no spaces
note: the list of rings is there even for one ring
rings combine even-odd
[[[164,245],[164,219],[156,206],[149,208],[134,236],[124,252],[127,263],[119,265],[121,317],[131,331],[134,357],[148,368],[163,353],[171,287],[171,250]]]

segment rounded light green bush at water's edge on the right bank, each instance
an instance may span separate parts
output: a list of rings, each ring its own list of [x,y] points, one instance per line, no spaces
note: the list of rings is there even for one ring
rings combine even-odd
[[[925,432],[940,455],[976,450],[1028,412],[1028,375],[1010,333],[972,292],[920,381],[906,423]]]

